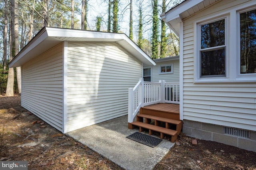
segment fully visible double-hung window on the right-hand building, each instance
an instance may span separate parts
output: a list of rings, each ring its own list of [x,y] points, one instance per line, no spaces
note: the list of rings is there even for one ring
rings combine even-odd
[[[226,19],[200,27],[200,78],[226,76]]]

